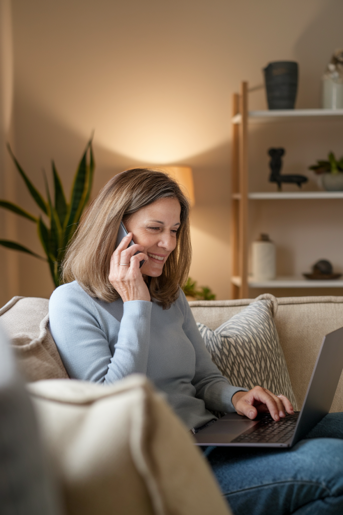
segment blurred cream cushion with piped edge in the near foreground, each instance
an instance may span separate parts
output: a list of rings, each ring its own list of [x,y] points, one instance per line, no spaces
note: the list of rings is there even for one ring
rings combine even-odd
[[[68,515],[228,515],[192,436],[143,376],[28,385]]]

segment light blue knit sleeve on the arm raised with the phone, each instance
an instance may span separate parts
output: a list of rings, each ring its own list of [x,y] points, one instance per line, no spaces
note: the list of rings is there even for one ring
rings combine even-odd
[[[151,306],[143,300],[124,302],[121,320],[109,322],[77,283],[57,288],[49,302],[50,330],[69,376],[106,384],[146,374]]]

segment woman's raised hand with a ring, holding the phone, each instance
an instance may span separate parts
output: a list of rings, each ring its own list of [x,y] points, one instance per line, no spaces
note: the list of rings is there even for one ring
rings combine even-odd
[[[150,301],[149,289],[139,268],[139,262],[148,260],[148,256],[141,252],[144,250],[142,245],[135,243],[128,247],[132,237],[132,232],[129,232],[113,252],[110,261],[109,281],[118,291],[123,302],[129,300]],[[140,251],[139,254],[134,255],[137,251]],[[122,264],[120,265],[120,263]]]

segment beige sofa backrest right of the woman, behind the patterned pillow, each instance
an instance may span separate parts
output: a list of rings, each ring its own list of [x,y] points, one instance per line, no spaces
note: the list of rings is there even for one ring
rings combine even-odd
[[[343,297],[281,297],[275,317],[298,406],[305,397],[323,337],[343,326]],[[197,322],[216,329],[239,313],[252,299],[192,301]],[[343,411],[343,374],[331,411]]]

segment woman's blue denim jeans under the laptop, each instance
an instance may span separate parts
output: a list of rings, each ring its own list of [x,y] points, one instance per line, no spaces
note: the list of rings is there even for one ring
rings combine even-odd
[[[291,449],[203,449],[234,515],[343,514],[343,413]]]

